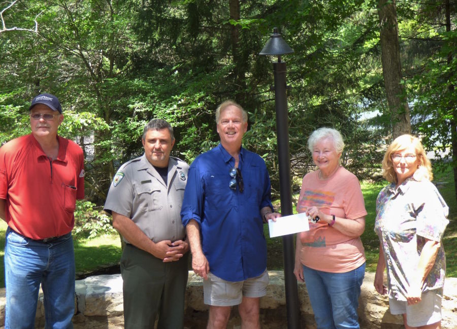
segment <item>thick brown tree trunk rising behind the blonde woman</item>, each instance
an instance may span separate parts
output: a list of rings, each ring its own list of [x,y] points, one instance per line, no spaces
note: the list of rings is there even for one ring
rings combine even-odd
[[[387,104],[391,113],[392,137],[411,133],[411,120],[402,81],[400,44],[395,0],[379,0],[381,63]]]

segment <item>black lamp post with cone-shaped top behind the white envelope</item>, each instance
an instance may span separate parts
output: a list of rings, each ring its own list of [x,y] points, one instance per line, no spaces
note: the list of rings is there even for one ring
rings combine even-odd
[[[289,132],[287,117],[286,95],[286,64],[281,62],[281,55],[290,54],[293,50],[281,38],[278,28],[273,29],[270,40],[259,55],[278,56],[278,61],[273,63],[275,78],[275,107],[276,129],[278,140],[279,161],[279,191],[281,194],[281,213],[283,216],[292,215],[292,191],[290,183],[290,158],[289,158]],[[298,299],[297,278],[293,274],[295,266],[295,248],[293,248],[293,235],[282,237],[282,250],[284,257],[284,283],[287,308],[287,328],[300,328],[300,302]]]

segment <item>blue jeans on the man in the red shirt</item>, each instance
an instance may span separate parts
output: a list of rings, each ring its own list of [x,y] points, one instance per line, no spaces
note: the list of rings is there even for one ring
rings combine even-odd
[[[71,233],[43,243],[8,227],[5,243],[5,329],[34,328],[43,289],[46,329],[73,328],[75,254]]]

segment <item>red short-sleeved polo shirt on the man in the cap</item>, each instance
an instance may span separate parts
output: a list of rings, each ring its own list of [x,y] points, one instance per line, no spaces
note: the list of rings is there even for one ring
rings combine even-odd
[[[51,161],[33,135],[0,148],[0,199],[6,221],[35,240],[72,231],[76,199],[84,198],[84,155],[74,142],[57,136],[59,154]]]

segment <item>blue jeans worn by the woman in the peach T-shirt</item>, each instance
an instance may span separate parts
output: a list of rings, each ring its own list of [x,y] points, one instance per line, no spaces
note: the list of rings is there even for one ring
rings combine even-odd
[[[365,263],[346,273],[329,273],[303,266],[303,276],[318,329],[358,329],[358,297]]]

